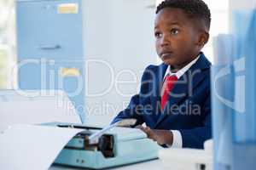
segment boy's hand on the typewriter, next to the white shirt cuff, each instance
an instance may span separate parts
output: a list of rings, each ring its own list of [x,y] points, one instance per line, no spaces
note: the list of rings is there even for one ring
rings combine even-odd
[[[148,139],[153,139],[160,145],[172,145],[173,135],[170,130],[151,129],[150,127],[143,127],[142,125],[138,125],[137,128],[146,133],[148,135]]]

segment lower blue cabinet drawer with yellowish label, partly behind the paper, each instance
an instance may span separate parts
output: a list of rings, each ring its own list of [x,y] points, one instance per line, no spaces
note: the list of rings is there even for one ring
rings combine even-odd
[[[61,89],[79,115],[84,115],[84,79],[84,63],[81,61],[39,63],[34,59],[19,68],[19,89]]]

